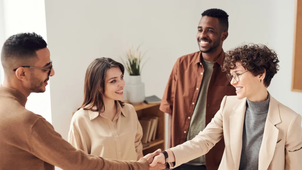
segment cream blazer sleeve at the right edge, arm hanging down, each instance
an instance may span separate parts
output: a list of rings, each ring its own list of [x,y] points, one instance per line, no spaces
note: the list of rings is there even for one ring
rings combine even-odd
[[[297,114],[288,128],[285,142],[285,170],[302,167],[301,115]]]

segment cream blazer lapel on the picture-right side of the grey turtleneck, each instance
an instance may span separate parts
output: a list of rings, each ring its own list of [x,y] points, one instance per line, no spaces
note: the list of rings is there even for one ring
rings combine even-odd
[[[281,122],[278,102],[270,95],[268,114],[265,122],[263,139],[259,151],[259,170],[268,169],[273,159],[279,130],[276,124]]]

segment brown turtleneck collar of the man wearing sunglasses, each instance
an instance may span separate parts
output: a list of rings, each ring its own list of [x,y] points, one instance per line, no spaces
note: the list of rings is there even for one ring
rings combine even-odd
[[[9,88],[9,87],[4,87],[4,86],[0,85],[0,94],[4,94],[5,96],[13,97],[22,106],[25,107],[25,104],[27,102],[27,97],[24,96],[24,94],[21,93],[19,90],[12,89],[12,88]]]

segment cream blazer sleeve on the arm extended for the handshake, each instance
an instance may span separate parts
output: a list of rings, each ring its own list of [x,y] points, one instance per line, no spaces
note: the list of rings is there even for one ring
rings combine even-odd
[[[199,132],[195,138],[170,149],[175,156],[175,165],[169,163],[172,168],[205,155],[217,142],[220,141],[223,136],[222,111],[225,102],[226,96],[224,96],[220,109],[215,114],[212,121],[203,131]]]

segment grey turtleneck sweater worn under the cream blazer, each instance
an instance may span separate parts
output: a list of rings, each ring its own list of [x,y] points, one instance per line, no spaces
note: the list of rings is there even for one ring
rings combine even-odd
[[[259,151],[268,113],[269,95],[264,102],[246,99],[239,170],[258,170]]]

